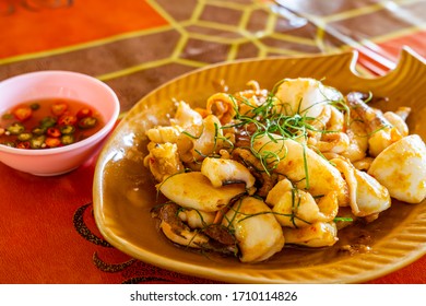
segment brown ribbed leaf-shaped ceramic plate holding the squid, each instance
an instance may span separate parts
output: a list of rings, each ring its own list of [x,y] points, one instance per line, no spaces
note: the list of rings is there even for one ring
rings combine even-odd
[[[152,264],[232,283],[359,283],[390,273],[426,254],[426,201],[421,204],[393,202],[392,208],[365,227],[340,231],[340,242],[324,249],[285,248],[270,260],[247,264],[179,248],[169,243],[151,217],[156,204],[154,180],[143,166],[146,154],[144,131],[166,123],[173,98],[204,105],[224,80],[230,92],[247,89],[258,80],[271,90],[283,78],[309,76],[323,80],[343,93],[371,91],[387,96],[384,109],[412,107],[411,133],[426,139],[426,64],[403,50],[398,67],[377,79],[354,72],[354,52],[244,60],[213,66],[182,75],[143,97],[122,119],[103,149],[94,180],[97,226],[115,247]],[[369,237],[366,242],[365,237]],[[339,251],[346,243],[363,242],[371,251],[350,255]]]

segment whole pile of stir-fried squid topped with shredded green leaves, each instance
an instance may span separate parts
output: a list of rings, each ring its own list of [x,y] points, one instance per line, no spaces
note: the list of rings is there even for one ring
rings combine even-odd
[[[159,228],[175,244],[259,262],[284,245],[333,246],[391,198],[422,202],[426,146],[409,134],[410,108],[381,111],[371,96],[300,78],[271,91],[250,81],[205,108],[176,102],[169,126],[146,131],[144,164],[168,199],[152,210]]]

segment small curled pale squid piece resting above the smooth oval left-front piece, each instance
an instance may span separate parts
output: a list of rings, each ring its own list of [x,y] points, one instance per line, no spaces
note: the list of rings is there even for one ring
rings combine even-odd
[[[234,160],[206,157],[201,165],[201,173],[214,187],[245,183],[248,189],[253,187],[256,181],[250,170]]]

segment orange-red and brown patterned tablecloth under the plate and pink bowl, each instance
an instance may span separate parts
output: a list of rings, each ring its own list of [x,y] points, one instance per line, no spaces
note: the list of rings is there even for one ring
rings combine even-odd
[[[113,87],[126,115],[164,82],[221,61],[355,48],[360,73],[382,74],[404,45],[426,56],[424,0],[279,2],[284,7],[265,0],[4,0],[0,81],[38,70],[83,72]],[[370,49],[387,61],[371,58]],[[103,239],[92,212],[96,157],[57,177],[0,163],[0,283],[215,283],[133,259]],[[368,283],[426,283],[425,268],[424,256]]]

